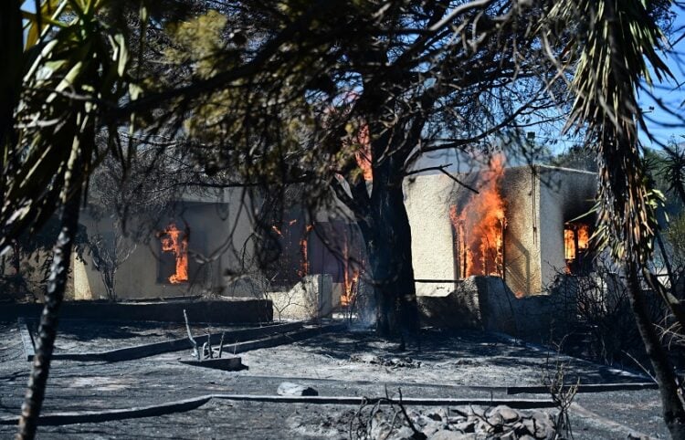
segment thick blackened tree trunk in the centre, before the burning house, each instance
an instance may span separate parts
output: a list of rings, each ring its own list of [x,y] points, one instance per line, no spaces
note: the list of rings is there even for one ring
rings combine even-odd
[[[357,224],[366,242],[368,265],[376,299],[377,331],[380,335],[418,336],[418,308],[414,268],[412,266],[411,229],[406,214],[402,182],[406,176],[406,161],[421,140],[427,120],[424,110],[432,108],[438,93],[428,88],[407,111],[401,98],[403,85],[413,78],[413,72],[393,64],[380,40],[371,38],[364,49],[352,51],[349,57],[360,67],[392,66],[384,75],[365,76],[364,92],[355,103],[363,116],[369,134],[368,162],[373,172],[371,194],[366,183],[352,179],[351,197],[342,200],[357,215]],[[387,121],[395,121],[388,128]],[[363,143],[363,142],[362,142]],[[354,181],[357,181],[354,183]]]

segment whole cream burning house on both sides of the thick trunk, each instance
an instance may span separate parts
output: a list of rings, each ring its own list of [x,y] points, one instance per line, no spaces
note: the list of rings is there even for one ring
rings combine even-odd
[[[444,174],[407,179],[419,302],[454,299],[455,314],[482,324],[485,310],[500,320],[492,310],[524,307],[531,301],[517,299],[543,298],[555,278],[587,270],[594,219],[583,215],[594,204],[595,187],[595,173],[542,165],[505,168],[497,158],[489,169],[458,174],[456,180]],[[290,308],[283,316],[297,318],[327,314],[350,300],[364,260],[363,240],[350,220],[332,213],[311,218],[293,204],[271,228],[279,258],[257,269],[249,262],[255,254],[254,219],[236,208],[239,197],[238,191],[222,190],[179,201],[178,212],[158,225],[149,243],[121,262],[117,296],[266,295],[279,315]],[[97,229],[87,213],[83,219],[89,230]],[[248,277],[225,277],[246,272]],[[97,267],[78,259],[73,286],[76,299],[107,298]],[[451,315],[443,306],[437,309]]]

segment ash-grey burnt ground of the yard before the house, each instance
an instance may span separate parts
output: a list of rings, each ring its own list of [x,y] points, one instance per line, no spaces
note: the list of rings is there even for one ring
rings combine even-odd
[[[77,325],[78,324],[78,325]],[[178,331],[159,323],[108,326],[63,322],[58,347],[70,351],[116,343],[175,338]],[[108,329],[111,329],[111,333]],[[88,343],[79,344],[79,341]],[[150,340],[152,341],[152,340]],[[55,361],[45,414],[154,405],[211,393],[275,395],[279,383],[298,382],[321,396],[379,397],[398,389],[405,397],[532,398],[545,394],[507,394],[507,387],[539,386],[545,369],[566,365],[565,381],[646,382],[635,372],[609,369],[544,351],[499,335],[478,331],[424,335],[422,351],[364,331],[339,331],[309,340],[242,353],[249,370],[222,372],[178,362],[172,352],[120,362]],[[16,323],[0,325],[0,416],[16,416],[30,364]],[[626,438],[631,432],[666,438],[656,390],[579,393],[585,411],[571,421],[575,438]],[[41,426],[42,438],[349,438],[349,412],[358,405],[237,402],[213,399],[199,408],[154,417],[111,422]],[[419,411],[422,408],[410,408]],[[553,410],[545,410],[554,413]],[[587,414],[594,414],[588,416]],[[607,423],[612,422],[611,423]],[[0,425],[0,436],[14,432]]]

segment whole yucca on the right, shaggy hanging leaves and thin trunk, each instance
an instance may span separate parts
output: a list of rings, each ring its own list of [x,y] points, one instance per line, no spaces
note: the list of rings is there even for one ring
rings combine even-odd
[[[577,55],[571,89],[574,106],[569,127],[585,130],[597,156],[599,246],[610,249],[627,278],[627,291],[638,330],[659,381],[664,419],[673,438],[685,438],[685,409],[672,365],[647,312],[640,276],[669,306],[680,324],[685,312],[678,299],[648,269],[659,231],[656,210],[662,195],[649,187],[638,129],[647,131],[637,94],[670,76],[659,57],[663,35],[648,0],[564,0],[551,10],[552,22],[577,23],[566,53]]]

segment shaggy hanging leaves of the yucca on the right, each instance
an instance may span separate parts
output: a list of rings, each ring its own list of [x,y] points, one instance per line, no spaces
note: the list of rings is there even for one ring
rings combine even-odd
[[[650,69],[659,79],[669,76],[657,50],[662,35],[641,1],[585,0],[559,2],[553,14],[567,23],[586,17],[578,38],[576,94],[569,125],[585,127],[587,141],[599,160],[599,223],[614,256],[646,263],[657,229],[655,199],[646,187],[640,159],[638,127],[646,129],[636,90],[650,83]]]

